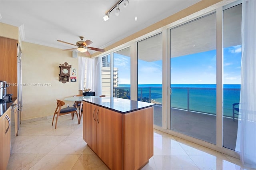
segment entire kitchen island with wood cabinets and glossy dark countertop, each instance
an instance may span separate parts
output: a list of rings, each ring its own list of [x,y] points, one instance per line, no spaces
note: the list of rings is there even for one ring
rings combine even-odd
[[[153,156],[153,103],[83,100],[83,139],[112,170],[137,170]]]

